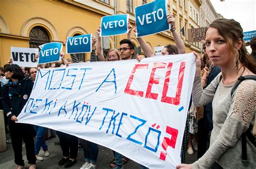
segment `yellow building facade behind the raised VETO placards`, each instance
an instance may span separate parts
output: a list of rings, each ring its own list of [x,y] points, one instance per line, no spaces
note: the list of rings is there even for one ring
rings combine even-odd
[[[103,16],[129,13],[134,26],[134,8],[152,0],[3,0],[0,1],[0,66],[8,62],[11,46],[38,47],[60,42],[80,34],[95,34]],[[200,53],[199,44],[187,43],[187,29],[200,27],[199,9],[202,0],[167,0],[170,13],[176,18],[176,30],[184,40],[186,52]],[[184,34],[181,29],[184,27]],[[104,50],[118,48],[126,34],[104,38]],[[132,43],[140,52],[139,43],[131,33]],[[174,44],[170,31],[144,37],[152,48]],[[63,51],[65,44],[63,43]],[[142,51],[143,53],[143,51]],[[80,61],[90,59],[90,53],[78,54]]]

